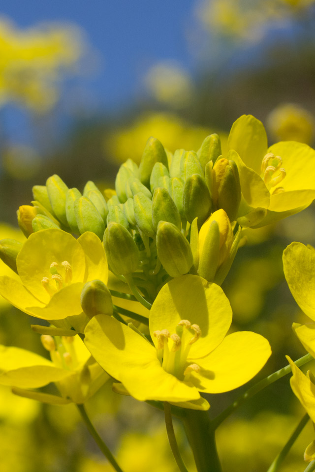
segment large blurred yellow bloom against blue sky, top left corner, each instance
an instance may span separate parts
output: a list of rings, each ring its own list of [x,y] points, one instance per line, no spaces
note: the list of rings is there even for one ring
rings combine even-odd
[[[73,68],[82,51],[81,33],[73,26],[19,30],[0,19],[0,104],[47,111],[59,98],[61,72]]]

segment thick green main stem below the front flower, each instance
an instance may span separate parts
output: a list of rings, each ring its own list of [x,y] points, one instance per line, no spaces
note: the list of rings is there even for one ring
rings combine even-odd
[[[198,472],[221,472],[215,430],[208,412],[187,410],[184,426]]]

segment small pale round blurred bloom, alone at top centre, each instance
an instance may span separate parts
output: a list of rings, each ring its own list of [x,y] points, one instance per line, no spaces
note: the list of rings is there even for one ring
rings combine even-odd
[[[187,72],[171,62],[160,62],[148,71],[145,84],[156,100],[174,108],[189,104],[192,83]]]

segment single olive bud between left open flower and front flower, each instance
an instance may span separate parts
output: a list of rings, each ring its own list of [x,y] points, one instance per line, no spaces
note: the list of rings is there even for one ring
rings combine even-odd
[[[99,314],[112,316],[112,296],[104,282],[90,280],[85,284],[81,292],[81,306],[90,319]]]

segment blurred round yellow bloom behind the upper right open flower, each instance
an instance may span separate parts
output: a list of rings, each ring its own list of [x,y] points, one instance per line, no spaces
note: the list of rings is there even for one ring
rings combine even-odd
[[[315,117],[293,103],[276,107],[267,118],[267,126],[275,141],[298,141],[310,145],[314,140]]]

